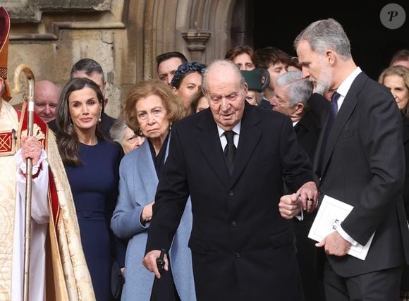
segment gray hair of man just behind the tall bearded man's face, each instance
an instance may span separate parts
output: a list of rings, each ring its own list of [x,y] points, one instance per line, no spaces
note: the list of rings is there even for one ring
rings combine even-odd
[[[301,71],[288,71],[277,78],[277,85],[280,87],[288,86],[288,101],[291,106],[295,106],[299,102],[307,108],[307,100],[310,98],[313,90],[313,85],[310,80],[303,78]]]

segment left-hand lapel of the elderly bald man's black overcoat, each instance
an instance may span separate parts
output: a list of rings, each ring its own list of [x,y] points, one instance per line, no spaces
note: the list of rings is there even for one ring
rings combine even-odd
[[[202,118],[197,123],[197,128],[202,132],[198,135],[197,141],[202,149],[204,159],[206,159],[221,183],[227,186],[230,175],[228,174],[223,149],[221,149],[217,125],[209,109],[203,113]]]

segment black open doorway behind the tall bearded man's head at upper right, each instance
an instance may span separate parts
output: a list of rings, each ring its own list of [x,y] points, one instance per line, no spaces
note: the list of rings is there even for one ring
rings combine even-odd
[[[255,49],[274,46],[295,55],[295,37],[307,25],[322,18],[334,18],[343,25],[355,63],[373,79],[389,65],[395,51],[409,49],[408,0],[246,2],[248,9],[252,6],[246,14],[252,26],[246,26],[246,32],[252,37]],[[390,3],[401,5],[406,13],[405,23],[396,30],[384,27],[379,19],[381,8]],[[251,44],[248,39],[246,42]]]

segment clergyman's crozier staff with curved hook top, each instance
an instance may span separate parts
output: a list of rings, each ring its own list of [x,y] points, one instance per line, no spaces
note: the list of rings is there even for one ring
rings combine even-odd
[[[32,70],[20,64],[14,71],[14,93],[20,93],[20,74],[24,72],[28,81],[28,125],[27,135],[32,137],[34,121],[34,75]],[[31,185],[32,185],[32,159],[27,159],[25,182],[25,215],[24,215],[24,274],[23,274],[23,301],[28,301],[30,283],[30,244],[31,244]]]

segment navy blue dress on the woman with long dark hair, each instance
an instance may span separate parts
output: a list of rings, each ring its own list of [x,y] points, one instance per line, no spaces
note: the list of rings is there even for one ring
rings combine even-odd
[[[97,301],[111,300],[111,265],[123,266],[121,246],[109,227],[118,196],[121,154],[111,142],[80,143],[80,166],[65,165],[73,192],[81,242]]]

